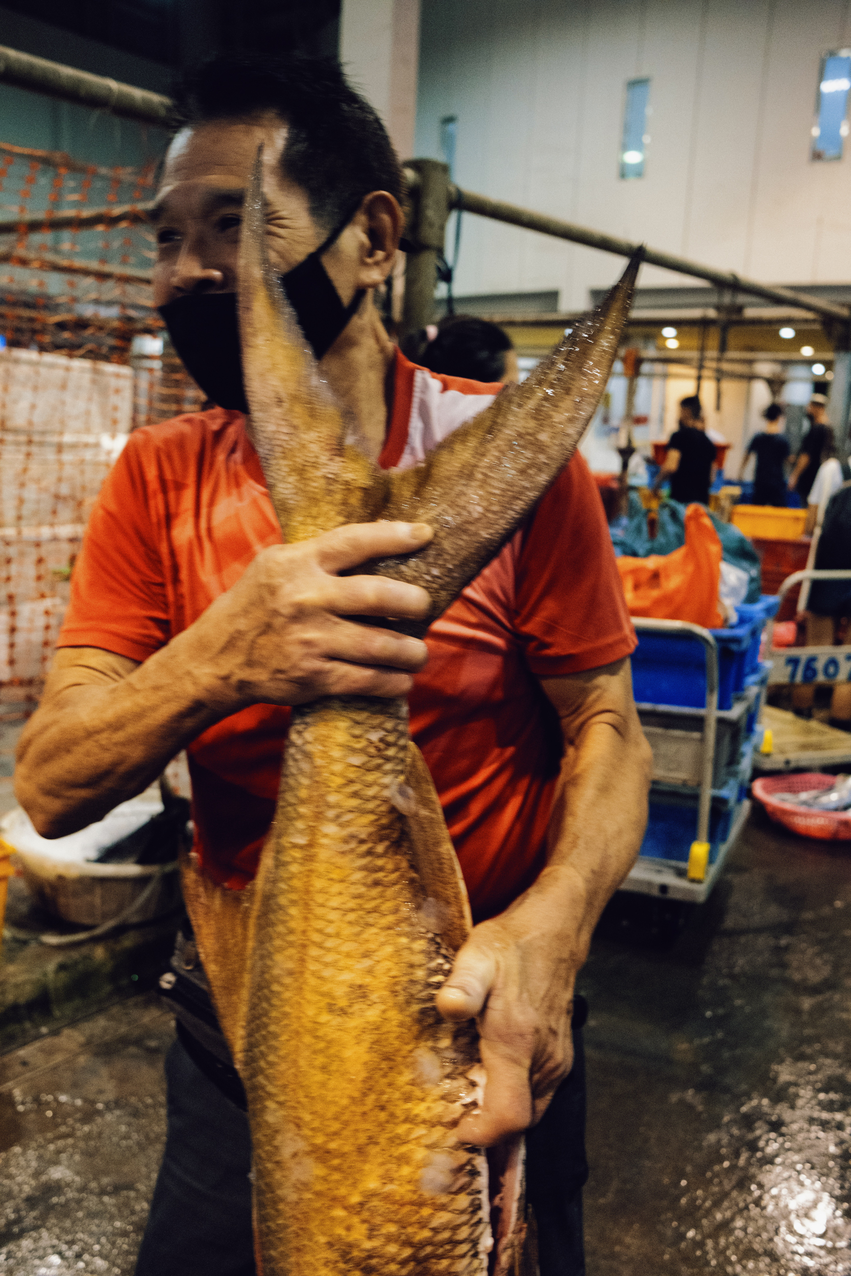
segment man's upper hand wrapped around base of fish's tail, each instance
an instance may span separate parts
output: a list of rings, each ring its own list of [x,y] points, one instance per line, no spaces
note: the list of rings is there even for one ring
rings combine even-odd
[[[422,523],[359,523],[262,550],[237,583],[191,627],[205,697],[235,713],[248,704],[304,704],[322,695],[407,695],[424,642],[347,616],[422,620],[418,586],[338,575],[431,540]]]

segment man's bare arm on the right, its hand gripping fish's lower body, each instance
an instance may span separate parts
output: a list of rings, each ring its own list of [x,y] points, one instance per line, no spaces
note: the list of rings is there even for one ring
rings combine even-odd
[[[475,928],[438,997],[444,1018],[478,1018],[485,1099],[458,1133],[480,1146],[540,1120],[570,1071],[577,974],[647,823],[652,755],[629,660],[541,685],[564,736],[547,865],[504,914]]]

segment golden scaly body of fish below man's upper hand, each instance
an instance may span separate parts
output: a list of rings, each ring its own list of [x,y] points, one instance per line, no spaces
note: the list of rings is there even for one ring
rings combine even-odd
[[[403,701],[293,715],[244,1057],[264,1271],[487,1271],[485,1157],[453,1134],[476,1037],[435,1011],[450,954],[389,796],[406,758]]]

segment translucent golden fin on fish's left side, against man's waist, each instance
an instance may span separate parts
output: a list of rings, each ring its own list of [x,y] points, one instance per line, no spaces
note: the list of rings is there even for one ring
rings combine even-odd
[[[254,883],[242,891],[228,891],[208,878],[188,855],[181,859],[180,878],[213,1007],[239,1071],[245,1045]]]

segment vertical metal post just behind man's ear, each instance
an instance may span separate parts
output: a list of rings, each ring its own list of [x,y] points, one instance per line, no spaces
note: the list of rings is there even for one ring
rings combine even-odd
[[[434,318],[438,258],[443,255],[449,216],[449,166],[436,160],[412,160],[406,166],[410,214],[404,228],[407,263],[401,336],[417,332]]]

